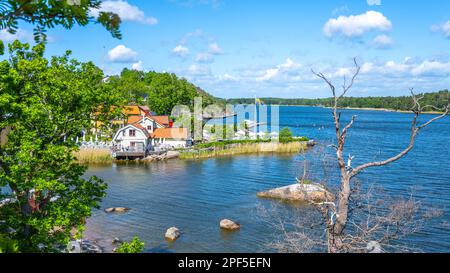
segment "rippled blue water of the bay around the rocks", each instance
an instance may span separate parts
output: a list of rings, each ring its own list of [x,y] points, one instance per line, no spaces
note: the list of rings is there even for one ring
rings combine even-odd
[[[358,120],[348,136],[347,153],[355,164],[383,159],[398,152],[409,140],[409,114],[347,110],[345,118]],[[430,116],[425,116],[430,117]],[[305,135],[322,145],[334,140],[328,109],[281,107],[281,127]],[[404,197],[415,189],[420,202],[443,210],[443,215],[408,238],[411,245],[429,252],[450,252],[450,118],[426,128],[414,150],[387,167],[361,176],[367,184],[381,185],[389,194]],[[319,148],[314,148],[319,149]],[[313,152],[312,152],[313,153]],[[114,237],[129,240],[137,235],[148,252],[263,252],[277,234],[258,208],[273,202],[259,200],[256,192],[292,184],[302,173],[302,155],[236,156],[199,161],[174,160],[149,165],[91,167],[109,184],[102,208],[130,207],[126,214],[94,211],[88,220],[88,237],[111,249]],[[314,162],[313,162],[314,163]],[[320,165],[320,164],[316,164]],[[312,178],[320,168],[310,167]],[[333,176],[334,174],[332,174]],[[282,205],[284,215],[302,215],[308,208]],[[223,218],[236,220],[242,229],[224,233]],[[176,226],[182,236],[175,243],[164,239]]]

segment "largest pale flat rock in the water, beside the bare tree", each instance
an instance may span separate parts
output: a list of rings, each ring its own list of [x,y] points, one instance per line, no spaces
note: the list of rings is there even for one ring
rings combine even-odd
[[[258,192],[258,197],[285,201],[325,202],[334,201],[334,195],[318,184],[293,184],[268,191]]]

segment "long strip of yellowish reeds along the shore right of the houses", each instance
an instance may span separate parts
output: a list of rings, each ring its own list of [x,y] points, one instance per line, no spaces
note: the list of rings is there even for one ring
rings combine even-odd
[[[237,141],[214,142],[196,145],[193,149],[182,151],[180,159],[201,159],[220,156],[231,156],[241,154],[265,154],[265,153],[299,153],[308,148],[305,140],[290,142],[270,141]]]

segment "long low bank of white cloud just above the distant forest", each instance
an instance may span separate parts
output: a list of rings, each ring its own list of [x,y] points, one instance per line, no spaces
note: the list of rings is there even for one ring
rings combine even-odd
[[[411,87],[429,92],[450,85],[450,61],[445,59],[406,56],[386,61],[360,61],[360,65],[361,74],[350,96],[408,95]],[[329,97],[329,89],[311,73],[311,68],[323,72],[336,86],[342,84],[343,76],[348,79],[354,72],[350,60],[342,66],[332,61],[300,64],[287,59],[271,67],[251,65],[217,74],[208,66],[195,64],[176,73],[223,97],[252,96],[252,92],[258,96]]]

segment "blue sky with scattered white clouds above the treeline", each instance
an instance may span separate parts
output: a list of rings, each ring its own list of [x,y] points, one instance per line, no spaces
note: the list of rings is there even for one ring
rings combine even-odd
[[[48,32],[48,55],[73,51],[106,74],[174,72],[225,98],[327,97],[311,73],[341,85],[356,57],[352,96],[450,87],[448,0],[113,0],[122,40],[98,25]],[[95,11],[92,12],[95,15]],[[31,27],[15,36],[32,40]]]

